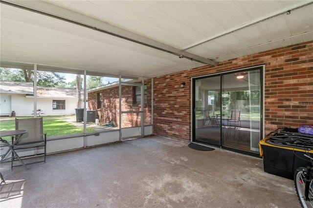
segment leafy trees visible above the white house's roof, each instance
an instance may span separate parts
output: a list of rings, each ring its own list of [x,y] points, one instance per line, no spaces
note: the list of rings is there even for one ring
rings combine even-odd
[[[11,82],[34,81],[34,71],[31,69],[13,69],[0,67],[0,80]],[[38,86],[59,86],[65,83],[65,78],[56,72],[37,71]]]

